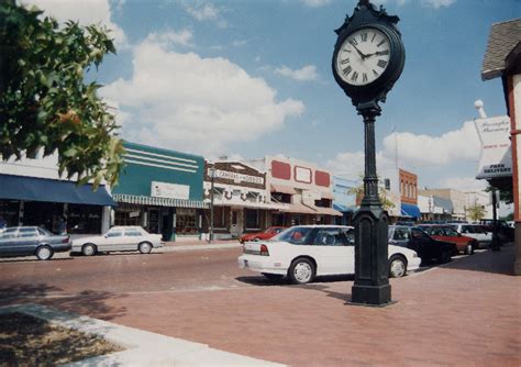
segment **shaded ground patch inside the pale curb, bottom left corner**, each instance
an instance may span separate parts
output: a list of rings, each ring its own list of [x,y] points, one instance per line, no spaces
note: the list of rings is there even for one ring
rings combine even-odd
[[[56,366],[120,351],[100,336],[24,313],[0,315],[0,366]]]

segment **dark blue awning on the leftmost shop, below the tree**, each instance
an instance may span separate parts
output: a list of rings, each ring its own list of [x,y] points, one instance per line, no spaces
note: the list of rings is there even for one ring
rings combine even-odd
[[[104,186],[92,191],[92,185],[38,177],[0,175],[0,199],[64,202],[89,205],[117,205]]]

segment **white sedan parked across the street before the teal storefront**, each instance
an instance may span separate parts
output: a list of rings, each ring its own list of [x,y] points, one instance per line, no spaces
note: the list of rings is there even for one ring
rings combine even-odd
[[[148,254],[152,248],[163,247],[160,234],[149,234],[141,226],[113,226],[101,236],[73,240],[71,253],[92,256],[111,251],[138,251]]]

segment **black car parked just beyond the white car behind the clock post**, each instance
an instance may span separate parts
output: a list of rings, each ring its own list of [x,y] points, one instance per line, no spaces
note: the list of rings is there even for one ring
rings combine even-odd
[[[439,263],[451,262],[456,245],[434,240],[417,226],[389,225],[389,244],[413,249],[422,260],[435,259]]]

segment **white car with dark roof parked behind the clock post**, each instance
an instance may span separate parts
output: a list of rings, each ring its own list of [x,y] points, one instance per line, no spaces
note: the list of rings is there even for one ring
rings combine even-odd
[[[269,241],[244,244],[240,268],[268,279],[288,276],[303,285],[315,276],[355,273],[354,229],[342,225],[292,226]],[[399,278],[417,270],[421,258],[412,249],[389,245],[389,275]]]

